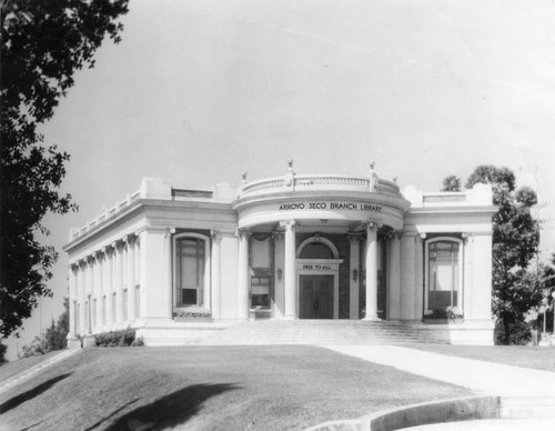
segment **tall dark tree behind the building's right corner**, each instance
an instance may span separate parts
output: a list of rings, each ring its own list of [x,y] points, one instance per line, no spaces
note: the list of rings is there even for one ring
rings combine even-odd
[[[498,207],[493,217],[493,312],[508,344],[513,327],[542,300],[537,278],[526,271],[539,243],[539,225],[531,212],[537,196],[528,187],[515,191],[515,176],[507,168],[480,166],[468,177],[466,188],[478,182],[492,184]]]

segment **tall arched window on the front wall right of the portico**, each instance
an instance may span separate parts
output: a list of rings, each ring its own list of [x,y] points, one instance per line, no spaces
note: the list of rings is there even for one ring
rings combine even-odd
[[[426,311],[462,311],[463,241],[435,238],[426,242]]]

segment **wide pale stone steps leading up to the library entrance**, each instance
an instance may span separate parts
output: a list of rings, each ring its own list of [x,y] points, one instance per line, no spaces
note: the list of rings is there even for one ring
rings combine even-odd
[[[424,329],[391,321],[361,320],[265,320],[232,324],[199,345],[263,344],[410,344],[445,343]]]

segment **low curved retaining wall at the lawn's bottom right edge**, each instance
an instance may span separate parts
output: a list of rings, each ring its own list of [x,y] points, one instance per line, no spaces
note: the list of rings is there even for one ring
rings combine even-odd
[[[428,423],[500,418],[500,397],[470,397],[382,410],[353,420],[331,421],[305,431],[392,431]]]

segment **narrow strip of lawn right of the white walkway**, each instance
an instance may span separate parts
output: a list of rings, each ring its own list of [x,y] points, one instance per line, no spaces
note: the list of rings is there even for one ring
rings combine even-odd
[[[555,348],[411,344],[411,349],[555,372]]]

